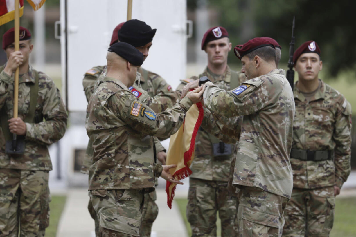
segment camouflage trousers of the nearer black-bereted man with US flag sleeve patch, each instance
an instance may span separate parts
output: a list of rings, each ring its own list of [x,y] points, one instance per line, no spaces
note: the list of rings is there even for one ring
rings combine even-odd
[[[140,236],[142,189],[90,190],[101,237]]]

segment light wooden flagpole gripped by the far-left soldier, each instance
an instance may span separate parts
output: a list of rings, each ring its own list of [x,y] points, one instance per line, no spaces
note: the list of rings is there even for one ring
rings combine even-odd
[[[20,40],[20,0],[15,0],[15,51],[19,51]],[[14,118],[18,115],[19,104],[19,67],[15,71],[14,81]]]

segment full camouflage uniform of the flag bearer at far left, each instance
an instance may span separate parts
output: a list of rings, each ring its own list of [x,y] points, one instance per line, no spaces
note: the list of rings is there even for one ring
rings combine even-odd
[[[29,66],[19,77],[19,117],[26,117],[30,85],[36,73]],[[5,153],[5,136],[0,128],[0,236],[44,236],[49,222],[48,172],[52,170],[47,146],[58,141],[67,128],[67,111],[53,81],[38,72],[35,123],[26,123],[25,152]],[[14,77],[0,73],[0,109],[6,104],[13,117]],[[44,120],[43,120],[44,119]],[[20,223],[19,223],[20,222]],[[20,230],[19,230],[20,226]]]

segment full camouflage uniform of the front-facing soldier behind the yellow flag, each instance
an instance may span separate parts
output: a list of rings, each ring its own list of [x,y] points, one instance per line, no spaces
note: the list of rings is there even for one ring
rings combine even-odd
[[[183,80],[177,90],[182,90],[188,81],[203,76],[224,90],[231,89],[231,80],[235,80],[235,87],[246,80],[245,74],[232,72],[229,66],[222,75],[215,75],[206,67],[199,77]],[[189,176],[187,219],[192,227],[192,236],[216,236],[216,214],[219,211],[221,236],[235,236],[237,199],[236,195],[229,195],[227,189],[234,145],[220,141],[208,131],[211,131],[210,127],[209,130],[200,127],[195,139],[195,157],[190,165],[193,173]]]

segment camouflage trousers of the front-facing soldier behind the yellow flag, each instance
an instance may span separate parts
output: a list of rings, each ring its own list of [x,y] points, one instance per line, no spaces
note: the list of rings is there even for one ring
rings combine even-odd
[[[237,231],[236,195],[229,195],[227,182],[189,179],[187,219],[192,236],[216,236],[216,213],[221,220],[221,237]]]

